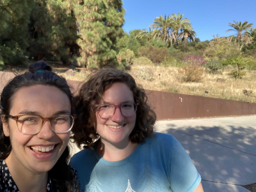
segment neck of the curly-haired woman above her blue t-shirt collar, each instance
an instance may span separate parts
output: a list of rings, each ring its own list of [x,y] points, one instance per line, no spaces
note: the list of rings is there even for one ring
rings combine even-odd
[[[129,157],[135,151],[137,145],[132,144],[130,140],[122,144],[110,144],[100,138],[97,144],[97,152],[108,161],[121,161]]]

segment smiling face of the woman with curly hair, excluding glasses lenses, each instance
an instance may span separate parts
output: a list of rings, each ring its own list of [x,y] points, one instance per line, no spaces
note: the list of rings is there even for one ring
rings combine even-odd
[[[134,103],[134,97],[131,89],[123,83],[113,84],[107,91],[104,92],[102,103],[110,103],[120,105],[122,103]],[[120,108],[116,108],[113,117],[109,119],[100,118],[96,112],[97,127],[95,130],[100,135],[100,140],[109,144],[125,145],[130,142],[129,135],[135,126],[136,114],[132,117],[124,117]]]

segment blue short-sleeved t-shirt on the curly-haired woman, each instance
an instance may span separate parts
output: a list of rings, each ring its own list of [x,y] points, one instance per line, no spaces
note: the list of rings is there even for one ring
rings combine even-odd
[[[194,191],[201,182],[188,153],[172,135],[156,133],[121,161],[107,161],[96,149],[75,154],[81,191]]]

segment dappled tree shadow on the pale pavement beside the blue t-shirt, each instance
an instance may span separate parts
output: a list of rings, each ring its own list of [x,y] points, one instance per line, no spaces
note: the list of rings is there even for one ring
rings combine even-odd
[[[189,124],[189,123],[188,123]],[[156,131],[173,135],[205,181],[256,182],[256,130],[250,126],[183,126],[166,123]]]

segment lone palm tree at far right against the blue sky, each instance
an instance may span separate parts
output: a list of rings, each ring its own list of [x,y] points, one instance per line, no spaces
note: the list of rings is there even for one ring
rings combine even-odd
[[[246,35],[244,36],[243,32],[249,29],[255,29],[254,27],[252,27],[253,23],[248,24],[248,22],[245,20],[242,24],[242,22],[237,22],[236,20],[234,20],[234,24],[229,23],[228,26],[233,27],[234,29],[228,29],[226,31],[226,33],[228,31],[236,31],[237,32],[237,36],[236,36],[236,40],[238,41],[238,47],[240,46],[240,43],[243,44],[245,42],[248,42],[248,40],[246,40]],[[228,40],[232,40],[232,38],[234,37],[234,34],[232,36],[228,37]]]

